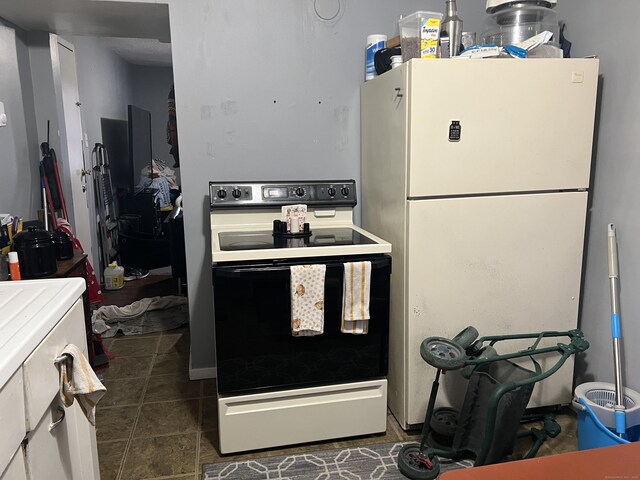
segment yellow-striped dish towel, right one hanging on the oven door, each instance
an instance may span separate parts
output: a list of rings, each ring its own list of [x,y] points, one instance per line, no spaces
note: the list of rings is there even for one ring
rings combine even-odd
[[[342,333],[364,335],[369,332],[371,262],[344,264],[342,289]]]

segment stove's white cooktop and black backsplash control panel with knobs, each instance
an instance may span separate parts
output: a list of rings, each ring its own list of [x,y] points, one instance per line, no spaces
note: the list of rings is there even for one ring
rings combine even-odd
[[[214,264],[391,252],[389,242],[353,224],[352,180],[212,183],[210,192]],[[307,205],[310,234],[274,235],[281,207],[292,204]]]

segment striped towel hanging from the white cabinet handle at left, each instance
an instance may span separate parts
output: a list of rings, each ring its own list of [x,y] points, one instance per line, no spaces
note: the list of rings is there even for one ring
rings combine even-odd
[[[91,425],[96,424],[96,405],[107,388],[98,380],[82,351],[70,343],[55,360],[60,371],[60,398],[66,407],[78,405]]]

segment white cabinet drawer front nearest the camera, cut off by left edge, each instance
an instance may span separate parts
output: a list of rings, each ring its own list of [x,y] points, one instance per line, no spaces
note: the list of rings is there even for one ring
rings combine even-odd
[[[0,473],[20,447],[25,435],[24,423],[24,389],[19,369],[0,389]]]

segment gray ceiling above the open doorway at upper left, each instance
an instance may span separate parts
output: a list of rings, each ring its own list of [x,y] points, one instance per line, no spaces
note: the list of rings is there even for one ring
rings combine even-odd
[[[0,17],[27,31],[105,37],[136,65],[171,65],[169,9],[161,3],[95,0],[0,0]]]

